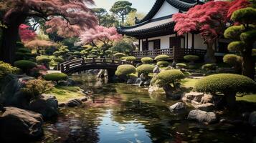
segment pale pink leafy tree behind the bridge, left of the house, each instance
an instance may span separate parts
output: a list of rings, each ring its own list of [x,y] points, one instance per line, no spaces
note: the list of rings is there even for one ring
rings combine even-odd
[[[110,46],[113,41],[118,41],[122,35],[118,34],[115,27],[97,26],[95,29],[89,29],[81,34],[80,41],[77,44],[92,44],[97,46],[98,42],[103,42],[105,45]]]

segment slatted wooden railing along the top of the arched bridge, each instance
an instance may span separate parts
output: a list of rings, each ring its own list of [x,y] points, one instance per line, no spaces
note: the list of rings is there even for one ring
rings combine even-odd
[[[129,61],[122,61],[120,59],[110,59],[110,58],[91,58],[91,59],[72,59],[71,61],[65,61],[58,65],[58,70],[65,72],[69,71],[70,69],[77,68],[79,66],[85,65],[102,65],[102,64],[114,64],[114,65],[121,65],[121,64],[132,64]]]

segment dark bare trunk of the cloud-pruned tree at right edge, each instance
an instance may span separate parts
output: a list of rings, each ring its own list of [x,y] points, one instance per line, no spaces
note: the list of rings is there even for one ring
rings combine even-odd
[[[255,60],[250,51],[242,53],[242,75],[255,79]]]

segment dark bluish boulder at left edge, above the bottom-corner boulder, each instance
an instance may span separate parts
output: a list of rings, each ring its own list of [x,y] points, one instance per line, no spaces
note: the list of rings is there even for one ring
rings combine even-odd
[[[21,91],[24,87],[24,82],[27,82],[33,77],[24,75],[9,74],[1,82],[0,89],[0,104],[4,107],[19,107],[27,109],[29,99]]]

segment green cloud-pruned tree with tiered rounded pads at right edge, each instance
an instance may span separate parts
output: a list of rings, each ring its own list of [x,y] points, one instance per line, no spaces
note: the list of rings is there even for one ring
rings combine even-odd
[[[253,44],[256,41],[256,9],[247,7],[234,11],[232,21],[239,23],[239,26],[231,26],[224,36],[233,41],[229,44],[229,51],[237,51],[242,56],[242,75],[254,79],[255,59],[252,56]]]

